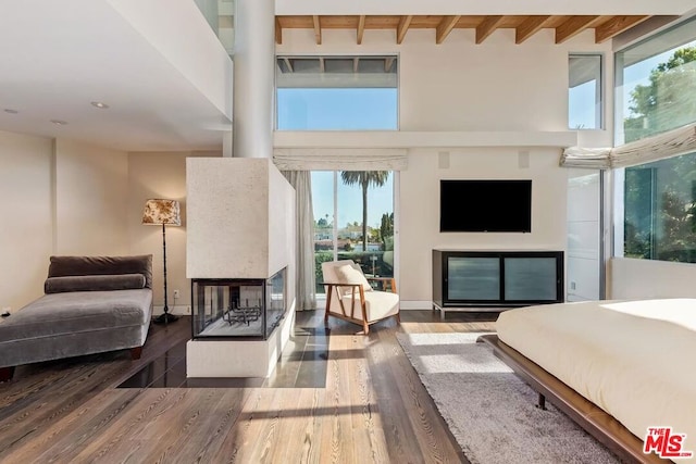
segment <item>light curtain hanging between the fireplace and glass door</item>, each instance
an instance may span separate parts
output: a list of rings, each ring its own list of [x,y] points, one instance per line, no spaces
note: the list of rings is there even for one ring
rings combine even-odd
[[[297,199],[297,311],[316,309],[314,278],[314,214],[312,212],[312,177],[309,171],[283,171],[295,187]]]

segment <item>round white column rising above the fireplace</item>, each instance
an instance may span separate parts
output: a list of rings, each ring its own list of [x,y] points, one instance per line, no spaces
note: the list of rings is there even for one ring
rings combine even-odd
[[[237,0],[235,3],[233,155],[271,158],[275,0]]]

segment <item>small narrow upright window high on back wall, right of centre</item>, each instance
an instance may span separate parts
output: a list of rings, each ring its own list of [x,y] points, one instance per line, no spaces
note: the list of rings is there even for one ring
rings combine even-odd
[[[601,55],[571,54],[568,59],[568,127],[602,126]]]

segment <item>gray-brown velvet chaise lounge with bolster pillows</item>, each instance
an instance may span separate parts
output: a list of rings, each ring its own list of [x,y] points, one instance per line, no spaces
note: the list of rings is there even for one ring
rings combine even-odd
[[[152,316],[152,255],[51,256],[45,294],[0,319],[0,381],[14,367],[115,350],[139,359]]]

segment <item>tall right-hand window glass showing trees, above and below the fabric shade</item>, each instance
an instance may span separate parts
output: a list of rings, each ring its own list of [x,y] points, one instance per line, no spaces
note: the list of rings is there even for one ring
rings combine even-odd
[[[617,145],[696,122],[696,20],[617,53],[616,63]],[[614,178],[614,254],[695,263],[696,153],[616,170]]]

